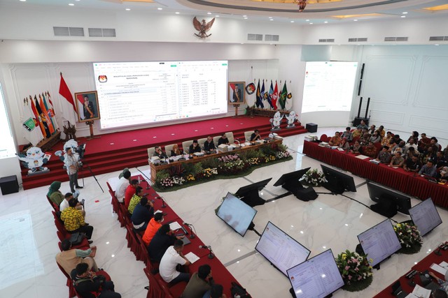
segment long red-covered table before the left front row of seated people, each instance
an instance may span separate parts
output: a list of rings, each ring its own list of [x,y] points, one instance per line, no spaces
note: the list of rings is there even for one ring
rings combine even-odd
[[[190,274],[197,272],[197,269],[199,269],[199,267],[202,265],[206,264],[210,265],[211,270],[213,271],[213,278],[215,283],[223,285],[224,294],[227,295],[227,297],[232,297],[230,293],[230,288],[232,288],[232,282],[238,283],[235,277],[233,277],[232,274],[230,274],[228,269],[225,268],[223,263],[220,260],[218,260],[218,258],[215,257],[213,259],[209,259],[209,250],[206,248],[200,248],[200,246],[204,246],[207,244],[204,244],[204,242],[202,242],[200,237],[198,237],[196,234],[193,239],[190,238],[191,234],[190,228],[188,228],[186,225],[183,225],[182,218],[179,217],[179,215],[176,214],[176,212],[171,207],[169,207],[169,205],[166,202],[162,201],[160,195],[156,191],[154,191],[154,189],[151,186],[148,185],[148,182],[144,179],[144,177],[142,177],[141,175],[137,176],[133,175],[132,179],[141,180],[139,185],[142,188],[144,188],[144,193],[147,195],[148,200],[153,201],[154,209],[156,211],[160,210],[164,214],[166,214],[164,216],[164,223],[177,222],[179,223],[179,225],[181,225],[181,227],[187,230],[188,234],[186,235],[186,237],[190,239],[190,244],[187,244],[186,246],[183,247],[182,253],[183,255],[187,255],[188,253],[194,253],[199,258],[199,260],[193,262],[193,264],[188,266],[188,271],[190,271]],[[109,185],[111,185],[110,189],[112,192],[115,191],[116,181],[118,181],[118,179],[116,178],[109,179],[108,181]],[[165,207],[162,207],[164,205]],[[178,230],[176,232],[181,231],[182,230]]]

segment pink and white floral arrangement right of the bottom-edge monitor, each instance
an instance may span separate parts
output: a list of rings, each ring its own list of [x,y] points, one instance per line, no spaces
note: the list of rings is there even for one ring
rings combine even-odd
[[[357,292],[372,283],[372,266],[367,260],[367,255],[360,255],[347,249],[337,255],[336,265],[344,280],[343,290]]]

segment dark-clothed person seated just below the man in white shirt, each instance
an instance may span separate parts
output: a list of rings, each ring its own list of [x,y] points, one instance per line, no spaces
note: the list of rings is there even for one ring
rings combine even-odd
[[[207,264],[202,265],[191,276],[181,298],[204,297],[204,294],[211,289],[211,285],[213,285],[211,267]]]

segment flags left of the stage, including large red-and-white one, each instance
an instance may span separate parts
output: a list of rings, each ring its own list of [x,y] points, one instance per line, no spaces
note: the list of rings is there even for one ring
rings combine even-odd
[[[64,77],[62,77],[62,73],[59,94],[66,99],[60,100],[61,116],[66,121],[74,124],[76,122],[74,114],[76,110],[73,96],[71,96],[71,92],[64,81]],[[34,98],[31,95],[23,98],[24,121],[22,121],[22,127],[25,128],[25,138],[33,146],[36,146],[44,138],[51,137],[59,130],[55,108],[51,99],[50,92],[48,91],[42,94],[36,94]]]

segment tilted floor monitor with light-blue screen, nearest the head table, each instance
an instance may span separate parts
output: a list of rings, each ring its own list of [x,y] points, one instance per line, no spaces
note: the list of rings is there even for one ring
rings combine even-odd
[[[216,213],[219,218],[230,225],[230,228],[243,237],[249,225],[251,225],[255,214],[257,214],[255,209],[231,193],[225,196],[223,204],[221,204]]]

